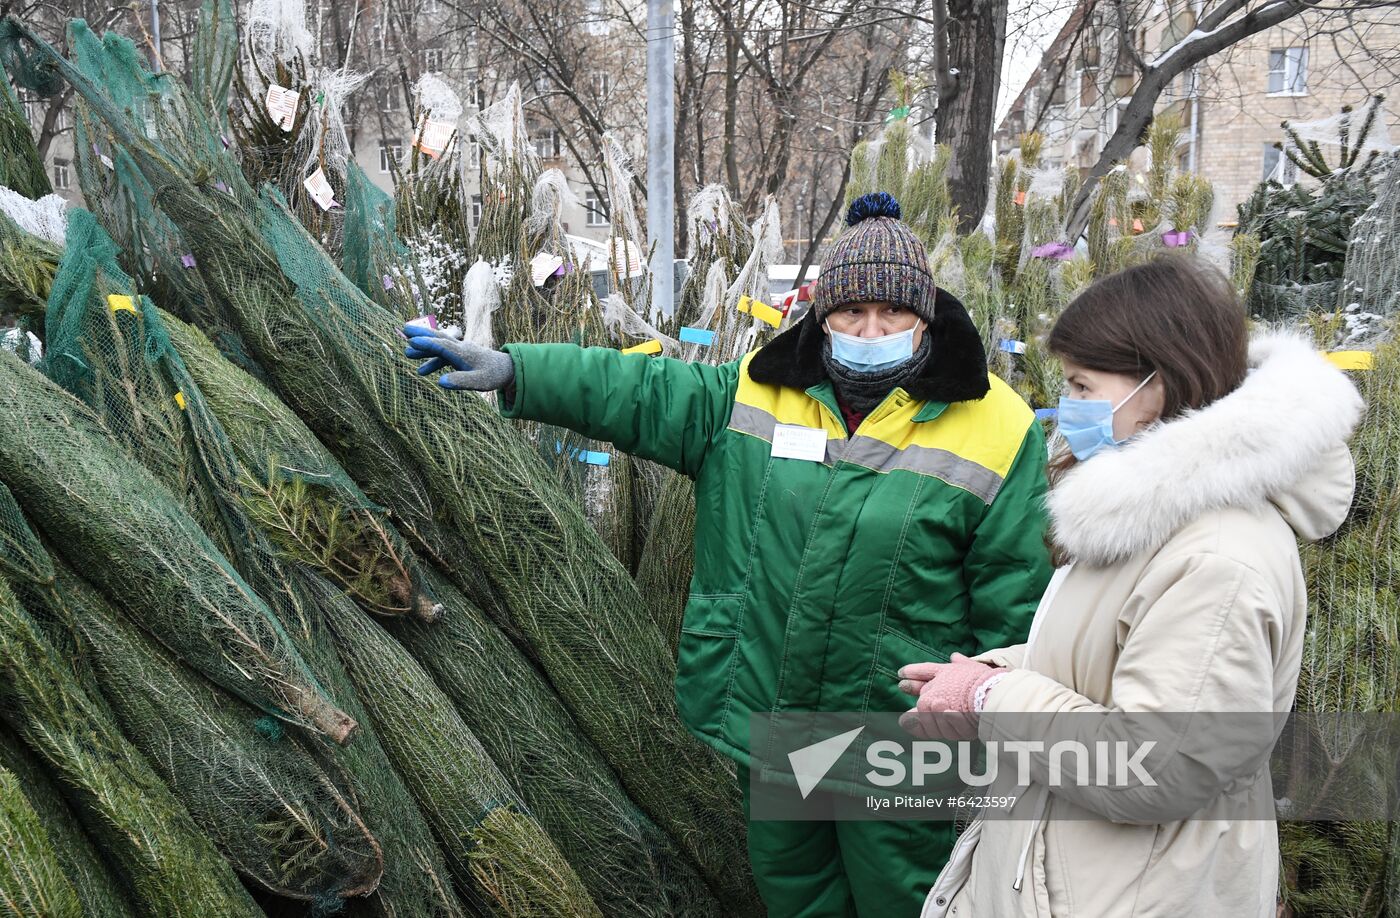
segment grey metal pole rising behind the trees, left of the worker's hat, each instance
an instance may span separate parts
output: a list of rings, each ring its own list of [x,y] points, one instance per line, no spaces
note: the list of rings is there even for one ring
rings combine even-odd
[[[673,0],[647,0],[647,235],[651,311],[675,311],[676,252],[676,45]]]

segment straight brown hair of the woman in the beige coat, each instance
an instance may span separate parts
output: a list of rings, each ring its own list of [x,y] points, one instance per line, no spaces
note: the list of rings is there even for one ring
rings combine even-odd
[[[1100,372],[1145,379],[1156,372],[1162,420],[1203,409],[1233,392],[1249,367],[1245,308],[1214,267],[1169,255],[1095,281],[1050,329],[1050,351]],[[1050,486],[1074,467],[1061,449]],[[1053,542],[1056,564],[1067,558]]]

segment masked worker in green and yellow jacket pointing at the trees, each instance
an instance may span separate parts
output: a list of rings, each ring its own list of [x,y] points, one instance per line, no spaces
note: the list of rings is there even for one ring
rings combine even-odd
[[[1023,641],[1050,575],[1035,414],[899,204],[868,195],[847,224],[808,315],[721,367],[405,329],[444,386],[694,479],[676,704],[738,761],[746,809],[750,715],[904,711],[900,666]],[[783,918],[911,918],[952,841],[949,821],[749,823]]]

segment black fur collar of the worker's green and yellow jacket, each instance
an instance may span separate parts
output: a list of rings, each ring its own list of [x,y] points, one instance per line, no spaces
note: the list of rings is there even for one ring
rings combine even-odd
[[[972,316],[951,292],[939,288],[934,299],[932,353],[924,371],[903,388],[921,402],[976,402],[991,389],[987,351]],[[749,361],[749,378],[773,386],[811,389],[826,379],[822,344],[826,333],[808,312],[801,322],[777,336]]]

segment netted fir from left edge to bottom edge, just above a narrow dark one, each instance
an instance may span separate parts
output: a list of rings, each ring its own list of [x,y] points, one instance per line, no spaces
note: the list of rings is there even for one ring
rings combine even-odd
[[[232,868],[0,579],[0,716],[62,782],[143,914],[260,918]]]

